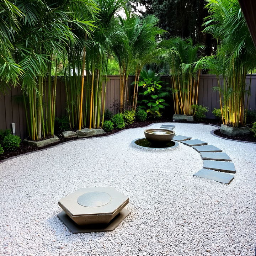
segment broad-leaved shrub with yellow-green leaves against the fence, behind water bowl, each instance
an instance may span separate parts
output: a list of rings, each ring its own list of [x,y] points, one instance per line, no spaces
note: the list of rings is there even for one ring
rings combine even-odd
[[[160,75],[155,74],[152,70],[143,70],[140,75],[140,81],[138,86],[142,91],[139,93],[142,96],[142,100],[138,101],[138,108],[146,110],[154,118],[162,116],[162,110],[166,106],[169,106],[165,102],[164,97],[170,96],[170,88],[162,88],[163,81],[160,81]]]

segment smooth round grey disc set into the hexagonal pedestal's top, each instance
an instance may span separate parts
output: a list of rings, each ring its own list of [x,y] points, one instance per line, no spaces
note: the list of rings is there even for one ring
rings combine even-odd
[[[108,204],[111,201],[111,196],[108,193],[95,191],[82,194],[78,197],[77,202],[81,206],[99,207]]]

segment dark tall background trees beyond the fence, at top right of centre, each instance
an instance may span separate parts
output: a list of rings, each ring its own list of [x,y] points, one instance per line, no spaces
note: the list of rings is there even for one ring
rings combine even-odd
[[[158,26],[168,32],[164,39],[191,37],[194,43],[206,46],[204,55],[215,52],[216,41],[202,32],[204,18],[208,16],[205,0],[137,0],[130,1],[130,6],[143,16],[154,14],[159,18]]]

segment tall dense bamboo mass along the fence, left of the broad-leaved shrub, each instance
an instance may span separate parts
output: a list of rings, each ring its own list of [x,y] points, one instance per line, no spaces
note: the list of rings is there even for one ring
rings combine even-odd
[[[126,4],[125,0],[1,2],[5,10],[1,43],[6,46],[0,46],[1,89],[21,86],[32,140],[54,135],[60,79],[70,129],[102,126],[110,56],[120,69],[121,112],[129,106],[127,81],[135,70],[135,111],[140,71],[158,52],[156,38],[164,31],[156,26],[155,16],[131,14]],[[125,17],[118,15],[121,9]]]

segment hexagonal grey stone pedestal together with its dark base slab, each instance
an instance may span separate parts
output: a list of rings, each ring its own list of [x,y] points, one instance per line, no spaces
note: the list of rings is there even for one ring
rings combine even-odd
[[[73,233],[110,231],[129,215],[128,202],[111,187],[80,188],[59,200],[64,212],[57,216]]]

